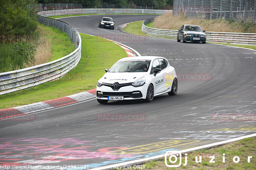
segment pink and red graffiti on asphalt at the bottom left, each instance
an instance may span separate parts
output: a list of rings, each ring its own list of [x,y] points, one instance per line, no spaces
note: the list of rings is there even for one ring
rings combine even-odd
[[[112,149],[119,150],[126,149],[126,147],[106,147],[91,152],[88,148],[93,147],[93,145],[90,145],[92,142],[94,141],[81,141],[74,138],[1,138],[0,165],[49,164],[92,158],[114,160],[132,156],[106,154]]]

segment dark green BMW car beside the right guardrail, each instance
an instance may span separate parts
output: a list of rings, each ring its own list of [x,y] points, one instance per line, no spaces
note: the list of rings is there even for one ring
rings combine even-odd
[[[179,29],[177,41],[180,42],[182,40],[183,43],[186,41],[192,42],[206,42],[206,34],[204,33],[202,28],[198,25],[182,25]]]

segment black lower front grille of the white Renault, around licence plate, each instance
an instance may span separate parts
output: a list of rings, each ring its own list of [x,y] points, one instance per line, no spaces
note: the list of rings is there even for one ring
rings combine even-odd
[[[142,97],[142,93],[140,91],[132,91],[132,92],[96,92],[97,97],[108,97],[108,96],[124,96],[124,98],[132,97],[132,98],[140,98]]]

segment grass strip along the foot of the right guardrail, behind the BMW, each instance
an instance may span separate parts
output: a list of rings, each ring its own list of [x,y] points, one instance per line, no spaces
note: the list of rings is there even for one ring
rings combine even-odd
[[[143,23],[143,21],[132,22],[124,28],[124,31],[132,33],[132,34],[136,34],[136,35],[150,36],[150,35],[146,35],[144,32],[141,31],[142,23]],[[153,23],[149,23],[146,26],[154,28]],[[156,36],[154,36],[154,37],[156,37]],[[161,38],[167,38],[167,37],[161,37]],[[170,38],[170,39],[172,39],[172,38]],[[249,48],[249,49],[256,50],[256,46],[252,46],[252,45],[239,45],[239,44],[230,44],[230,43],[212,43],[212,44],[237,46],[237,47],[243,47],[243,48]]]

